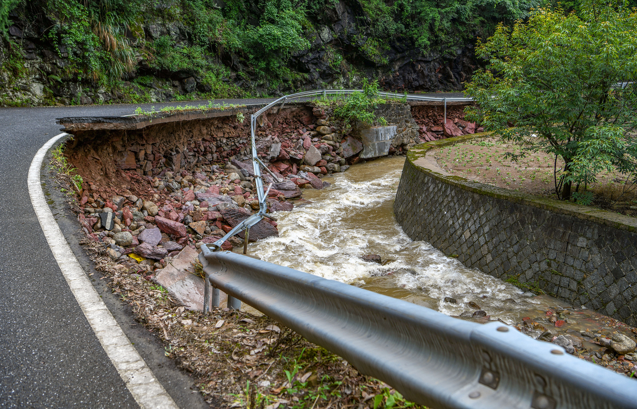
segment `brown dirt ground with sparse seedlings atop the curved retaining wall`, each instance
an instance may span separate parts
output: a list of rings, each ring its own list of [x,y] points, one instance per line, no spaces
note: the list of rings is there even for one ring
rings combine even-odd
[[[512,162],[505,159],[506,152],[520,154],[520,146],[505,143],[499,138],[480,138],[438,149],[434,158],[440,168],[452,175],[557,199],[554,156],[539,152]],[[557,168],[563,165],[564,162],[558,159]],[[625,180],[626,175],[619,173],[600,173],[598,183],[587,187],[586,191],[593,194],[589,206],[637,217],[637,184],[624,183]],[[583,193],[583,187],[579,191]]]

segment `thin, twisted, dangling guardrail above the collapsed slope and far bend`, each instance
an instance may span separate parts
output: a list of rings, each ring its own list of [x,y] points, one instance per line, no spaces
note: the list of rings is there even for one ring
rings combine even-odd
[[[276,220],[275,217],[272,217],[272,216],[270,216],[270,215],[268,215],[266,213],[267,210],[268,210],[268,205],[266,203],[266,199],[268,199],[268,192],[269,192],[269,190],[272,187],[272,183],[270,183],[270,185],[268,187],[268,190],[264,191],[263,178],[261,176],[261,166],[263,166],[263,168],[266,169],[266,171],[274,178],[274,180],[276,182],[279,182],[279,180],[278,180],[278,178],[276,178],[275,174],[272,173],[270,171],[270,169],[268,169],[268,167],[265,166],[265,164],[263,162],[261,162],[261,159],[259,159],[259,156],[257,155],[257,145],[256,145],[256,142],[255,142],[255,129],[257,127],[257,118],[259,118],[265,111],[268,111],[273,106],[276,106],[276,104],[278,104],[278,103],[281,103],[281,106],[280,106],[279,109],[283,108],[283,106],[285,105],[285,103],[287,102],[288,99],[296,99],[296,98],[302,98],[302,97],[311,97],[311,96],[317,96],[317,95],[322,95],[324,97],[326,97],[327,95],[346,95],[346,94],[353,94],[354,92],[362,92],[362,91],[363,90],[361,90],[361,89],[320,89],[320,90],[297,92],[296,94],[290,94],[290,95],[282,96],[282,97],[276,99],[274,102],[271,102],[268,105],[264,106],[263,108],[261,108],[261,110],[258,110],[255,113],[253,113],[252,115],[250,115],[250,138],[252,140],[252,168],[254,169],[254,180],[255,180],[255,185],[256,185],[256,190],[257,190],[257,197],[259,199],[259,212],[255,213],[254,215],[252,215],[252,216],[248,217],[247,219],[243,220],[240,224],[235,226],[231,231],[226,233],[225,236],[223,236],[219,240],[217,240],[214,243],[212,243],[212,245],[216,247],[216,250],[221,250],[221,245],[223,243],[225,243],[226,240],[228,240],[229,238],[234,236],[235,234],[240,233],[240,231],[245,231],[245,242],[247,243],[248,242],[248,234],[250,233],[250,227],[252,227],[255,224],[257,224],[258,222],[260,222],[263,218]],[[378,92],[378,96],[382,96],[382,97],[386,97],[386,98],[387,97],[389,97],[389,98],[406,98],[406,99],[413,100],[413,101],[439,101],[439,102],[443,102],[445,104],[445,124],[447,123],[447,101],[449,101],[449,102],[455,102],[455,101],[470,102],[470,101],[473,101],[473,98],[466,98],[466,97],[442,97],[442,98],[438,98],[438,97],[419,96],[419,95],[410,95],[410,94],[397,94],[396,92],[384,92],[384,91]],[[246,252],[246,248],[245,247],[244,247],[244,251],[243,252],[244,253]]]

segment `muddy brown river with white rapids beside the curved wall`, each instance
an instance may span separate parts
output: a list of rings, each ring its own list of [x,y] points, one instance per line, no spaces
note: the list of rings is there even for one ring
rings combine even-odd
[[[392,213],[403,164],[404,157],[386,157],[324,178],[331,186],[303,190],[304,199],[312,203],[276,213],[278,238],[251,243],[248,252],[265,261],[478,322],[486,319],[471,317],[478,310],[476,305],[491,320],[520,325],[529,317],[554,334],[606,328],[607,317],[592,310],[524,292],[478,269],[466,268],[426,241],[410,240]],[[380,255],[387,262],[363,261],[361,256],[368,254]],[[445,302],[445,297],[457,303]],[[549,322],[547,310],[566,308],[564,325],[557,329]],[[525,329],[534,338],[544,331],[541,327]]]

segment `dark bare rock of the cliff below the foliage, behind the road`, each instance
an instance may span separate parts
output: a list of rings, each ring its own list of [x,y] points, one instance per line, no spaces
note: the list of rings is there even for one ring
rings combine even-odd
[[[436,52],[422,50],[409,37],[380,44],[368,34],[375,22],[363,18],[360,4],[340,0],[319,13],[308,13],[303,36],[309,47],[287,58],[290,78],[264,76],[245,53],[213,46],[197,48],[203,50],[197,66],[165,68],[157,63],[161,41],[169,39],[169,51],[176,53],[198,47],[193,27],[173,7],[173,20],[148,13],[140,16],[143,23],[136,31],[125,32],[134,52],[132,69],[122,80],[110,83],[96,80],[104,69],[90,71],[78,65],[78,55],[85,51],[82,47],[67,47],[52,39],[48,30],[59,24],[55,18],[32,9],[11,11],[8,41],[0,35],[0,106],[276,96],[359,87],[364,77],[378,79],[385,90],[461,90],[462,82],[478,66],[473,39],[462,47],[438,45]],[[257,6],[248,8],[246,17],[258,21]]]

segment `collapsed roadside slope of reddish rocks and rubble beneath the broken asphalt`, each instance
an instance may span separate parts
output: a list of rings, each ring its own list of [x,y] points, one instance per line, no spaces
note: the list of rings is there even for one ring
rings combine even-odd
[[[361,142],[345,134],[330,113],[301,107],[260,118],[258,155],[278,179],[262,171],[266,189],[272,183],[268,212],[292,210],[303,189],[323,189],[329,185],[324,176],[360,161]],[[160,124],[156,132],[125,133],[125,138],[114,131],[99,143],[99,133],[80,133],[69,145],[69,161],[88,181],[79,194],[82,229],[131,273],[150,279],[184,247],[199,250],[258,212],[245,125],[229,118],[213,118],[207,125],[182,124],[180,133],[171,133],[174,124]],[[408,143],[413,145],[415,130],[405,129],[412,132]],[[276,226],[262,220],[249,240],[276,236]],[[223,248],[243,239],[242,232]]]

